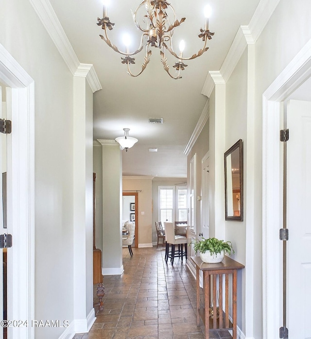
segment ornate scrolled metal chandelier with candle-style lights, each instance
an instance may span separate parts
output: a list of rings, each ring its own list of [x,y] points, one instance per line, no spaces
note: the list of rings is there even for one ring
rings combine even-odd
[[[107,15],[107,0],[104,0],[103,6],[103,18],[97,18],[97,25],[102,26],[104,30],[104,36],[100,35],[100,37],[106,42],[106,44],[111,47],[114,51],[124,55],[125,57],[121,57],[121,63],[127,65],[127,73],[133,77],[137,77],[140,75],[147,67],[148,63],[150,62],[150,56],[152,54],[151,47],[158,48],[160,50],[160,58],[163,64],[164,70],[171,76],[173,79],[180,79],[181,75],[180,72],[184,71],[186,65],[184,63],[185,60],[195,59],[198,56],[201,56],[204,52],[208,50],[207,40],[210,40],[214,33],[211,33],[208,29],[208,18],[210,16],[210,7],[206,6],[205,8],[205,26],[204,29],[200,29],[199,38],[202,38],[204,44],[203,48],[199,50],[196,54],[193,54],[190,57],[184,57],[183,51],[185,48],[185,42],[181,40],[179,44],[179,54],[177,55],[173,50],[173,33],[174,29],[180,26],[186,18],[181,18],[178,20],[176,18],[176,13],[173,6],[168,3],[166,0],[143,0],[138,7],[136,8],[135,12],[132,12],[132,16],[134,19],[134,23],[138,30],[142,32],[140,38],[140,45],[135,52],[129,51],[129,38],[125,38],[123,41],[126,50],[125,52],[121,51],[117,46],[113,45],[108,38],[108,31],[111,31],[114,27],[114,23],[110,21],[110,18]],[[138,11],[141,8],[145,8],[146,12],[143,15],[143,22],[146,24],[146,27],[143,28],[137,20]],[[141,66],[141,70],[138,74],[133,74],[131,71],[131,64],[135,64],[135,58],[133,55],[138,54],[145,48],[146,54],[144,57],[143,64]],[[169,65],[167,63],[167,58],[165,56],[166,52],[172,54],[177,61],[173,65],[173,68],[176,71],[176,74],[173,75],[170,72]]]

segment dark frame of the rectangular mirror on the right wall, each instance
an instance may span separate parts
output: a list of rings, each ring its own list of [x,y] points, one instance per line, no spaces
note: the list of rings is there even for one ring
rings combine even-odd
[[[228,194],[233,195],[233,192],[227,192],[227,157],[236,149],[239,150],[239,174],[240,174],[240,210],[238,216],[228,215]],[[232,177],[231,177],[232,178]],[[225,152],[225,220],[243,221],[243,141],[240,139],[232,147]]]

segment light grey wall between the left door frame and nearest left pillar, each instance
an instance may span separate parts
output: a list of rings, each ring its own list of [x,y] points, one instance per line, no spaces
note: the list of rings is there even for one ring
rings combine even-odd
[[[18,34],[12,19],[17,17],[22,27]],[[35,82],[35,319],[71,322],[72,74],[30,1],[1,1],[0,43]],[[38,327],[34,332],[35,338],[55,339],[64,328]]]

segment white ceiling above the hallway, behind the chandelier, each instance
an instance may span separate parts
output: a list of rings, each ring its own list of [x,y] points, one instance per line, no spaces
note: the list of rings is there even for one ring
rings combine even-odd
[[[99,37],[103,34],[97,26],[102,18],[101,0],[50,0],[69,41],[81,63],[93,64],[103,89],[94,93],[94,140],[115,139],[130,128],[129,136],[138,143],[128,152],[122,152],[123,175],[154,176],[159,178],[185,178],[187,157],[183,150],[206,104],[201,94],[208,71],[220,69],[240,25],[247,25],[259,0],[209,0],[212,16],[209,29],[215,32],[208,41],[209,50],[195,60],[186,62],[183,78],[171,79],[163,70],[158,49],[152,50],[151,62],[137,78],[126,73],[121,55],[109,48]],[[186,17],[176,28],[175,50],[181,38],[186,41],[184,56],[197,53],[203,47],[198,37],[204,26],[204,0],[172,0],[177,18]],[[109,32],[110,40],[121,50],[121,35],[128,32],[137,39],[139,31],[133,23],[133,11],[139,0],[111,0],[108,16],[115,23]],[[132,71],[140,71],[144,53],[136,56]],[[173,70],[174,61],[170,62]],[[149,124],[148,118],[163,118],[163,125]],[[148,152],[157,147],[158,152]]]

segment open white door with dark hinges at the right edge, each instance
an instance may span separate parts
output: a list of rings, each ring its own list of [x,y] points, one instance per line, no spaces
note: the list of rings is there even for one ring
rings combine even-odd
[[[311,338],[311,102],[287,106],[287,227],[290,339]]]

